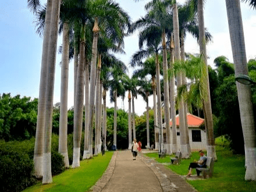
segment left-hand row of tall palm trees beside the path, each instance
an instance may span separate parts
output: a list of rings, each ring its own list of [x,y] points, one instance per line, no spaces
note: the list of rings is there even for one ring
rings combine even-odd
[[[34,3],[31,3],[34,2]],[[95,151],[98,154],[101,137],[102,87],[104,93],[111,87],[120,94],[120,83],[111,83],[120,78],[127,70],[123,62],[118,61],[112,52],[123,52],[123,37],[130,25],[130,17],[118,3],[111,0],[96,1],[59,1],[49,0],[45,7],[39,1],[29,1],[29,5],[37,10],[38,32],[44,34],[42,53],[42,69],[40,80],[40,101],[38,104],[38,123],[35,138],[34,165],[35,175],[42,176],[42,183],[51,183],[51,129],[52,98],[54,93],[54,72],[56,58],[56,41],[59,31],[63,31],[62,45],[62,80],[61,80],[61,115],[59,127],[59,152],[65,157],[65,166],[69,166],[67,158],[67,80],[70,52],[74,57],[74,148],[72,167],[80,166],[80,141],[83,129],[83,103],[86,103],[86,122],[83,158],[93,155],[93,118],[95,105]],[[49,31],[49,32],[48,32]],[[73,50],[70,51],[70,50]],[[72,55],[71,54],[71,55]],[[98,62],[97,62],[98,61]],[[112,70],[108,69],[112,67]],[[101,70],[105,69],[105,73]],[[108,69],[108,70],[106,70]],[[89,91],[90,70],[90,91]],[[119,74],[120,73],[120,74]],[[115,74],[118,74],[115,78]],[[104,79],[105,77],[105,79]],[[105,83],[105,84],[104,84]],[[96,90],[96,91],[95,91]],[[86,94],[84,92],[86,91]],[[104,104],[105,104],[104,100]],[[115,105],[116,106],[116,105]],[[105,109],[104,118],[106,118]],[[106,119],[103,123],[106,136]],[[115,127],[116,129],[116,119]],[[114,145],[116,142],[114,141]]]

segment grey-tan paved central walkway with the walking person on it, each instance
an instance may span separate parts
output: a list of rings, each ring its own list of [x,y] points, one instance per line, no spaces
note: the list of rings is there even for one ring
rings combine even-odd
[[[115,170],[102,192],[162,191],[154,172],[138,156],[133,161],[131,151],[118,151]]]

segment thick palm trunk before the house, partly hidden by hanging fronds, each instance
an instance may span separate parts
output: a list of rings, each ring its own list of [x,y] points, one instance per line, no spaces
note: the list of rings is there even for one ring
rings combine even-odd
[[[177,4],[173,4],[173,31],[174,31],[174,52],[175,61],[180,61],[180,38],[179,38],[179,17],[177,11]],[[177,74],[177,88],[182,86],[182,72]],[[188,157],[189,152],[186,147],[186,130],[185,130],[185,119],[184,119],[184,106],[183,98],[179,102],[179,128],[180,128],[180,151],[182,152],[182,157]]]

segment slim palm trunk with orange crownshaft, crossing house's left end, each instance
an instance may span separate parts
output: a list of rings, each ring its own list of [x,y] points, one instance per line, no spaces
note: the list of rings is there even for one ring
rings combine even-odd
[[[166,53],[165,30],[162,33],[162,47],[163,47],[163,89],[164,89],[164,103],[165,103],[165,128],[166,128],[166,149],[167,153],[171,154],[170,141],[170,103],[169,103],[169,83],[168,83],[168,64]]]

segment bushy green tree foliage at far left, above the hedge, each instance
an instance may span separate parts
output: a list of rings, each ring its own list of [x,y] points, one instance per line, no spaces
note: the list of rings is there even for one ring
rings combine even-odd
[[[0,95],[0,138],[25,140],[35,136],[38,99]]]

